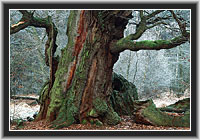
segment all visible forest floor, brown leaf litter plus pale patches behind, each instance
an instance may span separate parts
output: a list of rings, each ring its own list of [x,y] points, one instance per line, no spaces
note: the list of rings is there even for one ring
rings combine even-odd
[[[189,96],[189,95],[188,95]],[[177,97],[171,94],[163,93],[159,96],[153,97],[153,101],[156,107],[164,107],[170,104],[177,102],[178,100],[182,100],[187,98],[188,96]],[[29,95],[29,97],[36,97],[35,95]],[[143,99],[145,100],[145,99]],[[39,105],[34,101],[30,100],[11,100],[10,102],[10,116],[11,120],[13,119],[25,119],[27,116],[32,117],[35,112],[39,111]],[[173,115],[178,116],[179,114],[173,113]],[[69,127],[62,128],[60,130],[190,130],[189,127],[166,127],[166,126],[152,126],[145,124],[137,124],[133,122],[130,116],[121,116],[122,121],[113,126],[103,125],[91,125],[91,124],[73,124]],[[11,123],[11,130],[53,130],[50,128],[51,124],[45,121],[25,121],[22,125],[18,125],[17,123]]]

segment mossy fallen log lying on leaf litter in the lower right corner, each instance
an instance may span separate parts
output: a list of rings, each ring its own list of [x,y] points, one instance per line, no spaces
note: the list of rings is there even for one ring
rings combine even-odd
[[[156,108],[152,100],[134,102],[135,122],[155,126],[190,127],[190,110],[181,116],[169,115]]]

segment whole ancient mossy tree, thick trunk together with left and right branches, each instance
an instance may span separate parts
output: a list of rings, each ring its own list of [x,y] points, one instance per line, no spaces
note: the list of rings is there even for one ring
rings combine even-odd
[[[138,23],[129,21],[132,11],[70,11],[68,44],[58,59],[54,56],[57,28],[52,18],[39,18],[29,11],[20,12],[23,16],[11,26],[11,34],[34,26],[45,28],[48,36],[45,60],[50,67],[50,80],[42,90],[37,119],[54,121],[62,126],[92,121],[117,124],[120,117],[111,106],[110,96],[113,66],[119,54],[127,49],[170,49],[189,41],[190,37],[186,22],[175,11],[140,10]],[[179,29],[175,37],[136,41],[149,29],[169,25],[170,20]],[[129,22],[136,25],[136,30],[124,37],[124,29]]]

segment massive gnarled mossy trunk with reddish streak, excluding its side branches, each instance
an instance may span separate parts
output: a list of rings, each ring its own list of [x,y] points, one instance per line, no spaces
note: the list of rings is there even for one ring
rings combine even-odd
[[[120,121],[110,103],[113,65],[119,54],[112,54],[109,45],[123,37],[128,20],[120,16],[130,14],[131,11],[71,11],[69,42],[62,50],[53,87],[49,92],[47,84],[43,92],[45,103],[38,119],[65,126]]]

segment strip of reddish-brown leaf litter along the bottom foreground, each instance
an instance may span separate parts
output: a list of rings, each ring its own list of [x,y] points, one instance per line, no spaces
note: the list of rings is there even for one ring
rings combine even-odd
[[[113,126],[108,125],[91,125],[91,124],[72,124],[69,127],[65,127],[57,130],[190,130],[188,127],[164,127],[164,126],[152,126],[145,124],[137,124],[132,122],[131,117],[121,116],[122,121]],[[23,126],[18,127],[16,124],[11,125],[11,130],[54,130],[50,128],[51,124],[44,121],[37,122],[25,122]]]

